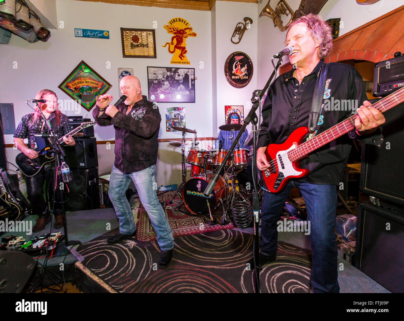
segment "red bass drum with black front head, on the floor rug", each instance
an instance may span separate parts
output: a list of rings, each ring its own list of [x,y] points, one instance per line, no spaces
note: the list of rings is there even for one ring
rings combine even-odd
[[[223,177],[219,176],[212,193],[210,193],[210,197],[205,197],[203,192],[212,180],[212,177],[213,173],[206,172],[206,175],[191,178],[184,184],[182,199],[189,212],[195,215],[209,215],[207,201],[209,201],[210,211],[213,212],[219,204],[219,200],[229,194],[229,187],[226,185]]]

